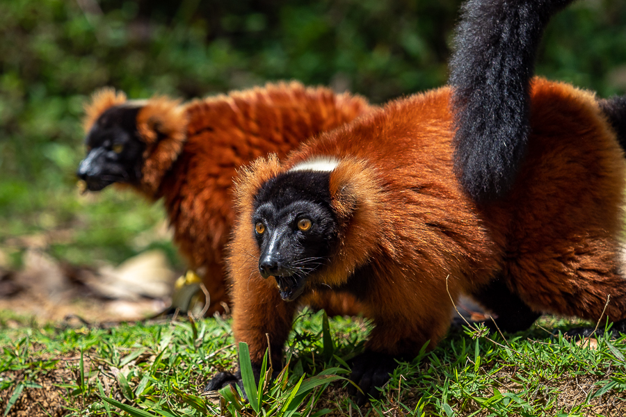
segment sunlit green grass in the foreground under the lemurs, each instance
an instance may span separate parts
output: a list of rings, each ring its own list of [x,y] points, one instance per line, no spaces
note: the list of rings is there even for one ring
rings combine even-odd
[[[0,316],[0,412],[8,415],[24,407],[26,393],[38,398],[46,389],[70,416],[618,416],[626,409],[626,338],[599,332],[590,349],[546,332],[568,327],[551,318],[506,339],[453,331],[433,352],[400,363],[383,398],[358,409],[344,378],[369,327],[360,319],[327,326],[323,313],[300,314],[289,366],[275,382],[255,385],[246,403],[230,389],[202,395],[211,375],[237,366],[229,320],[70,328]]]

